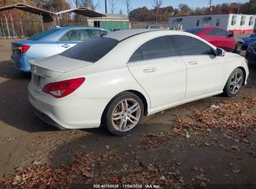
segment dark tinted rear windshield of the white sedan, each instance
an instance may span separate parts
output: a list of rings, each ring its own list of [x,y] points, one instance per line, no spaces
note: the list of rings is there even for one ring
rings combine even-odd
[[[118,42],[118,40],[109,37],[94,37],[69,48],[60,53],[60,55],[67,58],[95,63],[107,55]]]

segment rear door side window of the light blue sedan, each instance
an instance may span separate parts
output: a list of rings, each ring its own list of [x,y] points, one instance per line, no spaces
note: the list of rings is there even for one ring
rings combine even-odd
[[[60,41],[84,41],[90,39],[90,34],[88,33],[88,30],[70,30],[65,34]]]

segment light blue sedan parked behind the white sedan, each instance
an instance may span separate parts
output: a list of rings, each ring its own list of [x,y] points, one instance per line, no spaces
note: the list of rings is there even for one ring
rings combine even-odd
[[[12,42],[11,60],[21,71],[31,72],[29,60],[39,60],[64,52],[78,43],[109,32],[98,27],[58,27],[26,40]]]

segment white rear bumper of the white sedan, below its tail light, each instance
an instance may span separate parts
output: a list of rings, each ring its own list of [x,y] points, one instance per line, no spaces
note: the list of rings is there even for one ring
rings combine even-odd
[[[100,126],[103,111],[110,99],[80,98],[74,93],[57,99],[47,93],[37,93],[30,83],[29,101],[34,113],[52,126],[86,129]]]

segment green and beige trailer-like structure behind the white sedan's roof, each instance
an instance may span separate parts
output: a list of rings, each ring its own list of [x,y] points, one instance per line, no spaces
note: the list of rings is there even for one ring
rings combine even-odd
[[[93,20],[94,27],[101,27],[107,30],[130,29],[130,21],[125,14],[106,14],[106,17]]]

